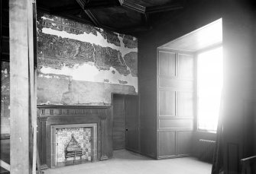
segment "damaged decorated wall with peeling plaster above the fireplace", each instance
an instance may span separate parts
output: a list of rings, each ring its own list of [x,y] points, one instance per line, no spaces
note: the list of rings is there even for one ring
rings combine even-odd
[[[138,93],[138,40],[37,14],[37,104],[110,104]]]

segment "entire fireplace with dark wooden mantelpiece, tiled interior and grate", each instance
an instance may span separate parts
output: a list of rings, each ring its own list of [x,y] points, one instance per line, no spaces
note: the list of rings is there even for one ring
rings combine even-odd
[[[41,169],[112,157],[112,106],[37,106]]]

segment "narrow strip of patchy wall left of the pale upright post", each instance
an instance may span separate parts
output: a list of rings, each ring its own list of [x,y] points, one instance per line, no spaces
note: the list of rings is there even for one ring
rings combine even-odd
[[[1,136],[10,134],[10,68],[1,62]]]

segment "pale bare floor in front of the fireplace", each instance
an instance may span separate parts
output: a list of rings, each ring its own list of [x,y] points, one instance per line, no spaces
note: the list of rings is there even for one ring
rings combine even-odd
[[[44,174],[210,174],[212,165],[193,157],[152,160],[127,150],[114,151],[110,160],[44,170]]]

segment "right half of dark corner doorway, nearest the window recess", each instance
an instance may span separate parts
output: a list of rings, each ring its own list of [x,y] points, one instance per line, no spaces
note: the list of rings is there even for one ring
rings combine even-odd
[[[138,96],[125,96],[125,149],[139,151]]]

